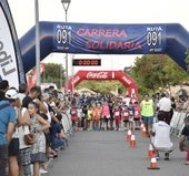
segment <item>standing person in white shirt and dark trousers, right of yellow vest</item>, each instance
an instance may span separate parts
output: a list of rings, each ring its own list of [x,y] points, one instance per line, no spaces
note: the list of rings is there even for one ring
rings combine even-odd
[[[167,124],[170,124],[170,110],[171,110],[171,100],[166,96],[165,93],[161,94],[161,99],[159,100],[159,112],[161,112],[165,117]]]

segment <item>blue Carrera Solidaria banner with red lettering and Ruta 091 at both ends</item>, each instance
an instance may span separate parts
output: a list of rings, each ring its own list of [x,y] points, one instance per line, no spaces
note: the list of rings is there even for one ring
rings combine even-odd
[[[165,24],[53,24],[53,51],[91,54],[163,53]]]

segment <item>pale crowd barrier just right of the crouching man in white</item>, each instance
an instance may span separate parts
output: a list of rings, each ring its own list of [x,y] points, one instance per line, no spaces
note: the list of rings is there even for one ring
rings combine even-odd
[[[170,127],[171,127],[171,134],[175,136],[179,136],[181,133],[181,130],[183,127],[183,118],[186,117],[187,113],[185,112],[173,112]]]

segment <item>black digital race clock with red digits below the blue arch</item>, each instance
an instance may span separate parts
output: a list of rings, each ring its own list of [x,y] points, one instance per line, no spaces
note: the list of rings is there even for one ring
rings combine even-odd
[[[76,59],[72,60],[73,66],[100,66],[101,60],[100,59]]]

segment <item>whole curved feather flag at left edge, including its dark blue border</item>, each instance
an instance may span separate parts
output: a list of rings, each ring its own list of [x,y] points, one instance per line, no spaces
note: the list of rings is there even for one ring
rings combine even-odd
[[[8,2],[0,0],[0,81],[18,89],[26,82],[18,38]]]

